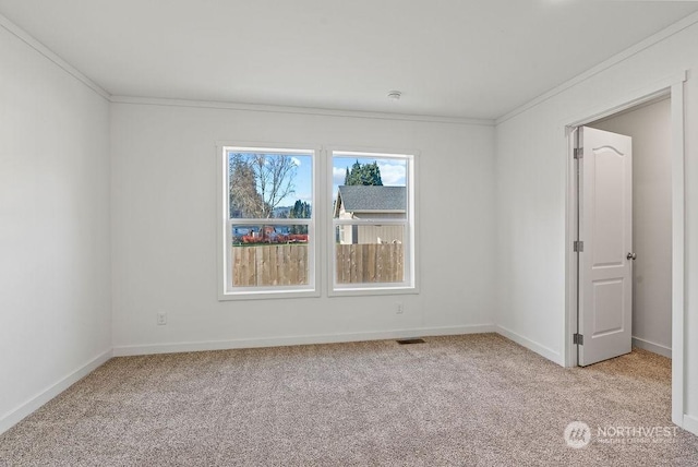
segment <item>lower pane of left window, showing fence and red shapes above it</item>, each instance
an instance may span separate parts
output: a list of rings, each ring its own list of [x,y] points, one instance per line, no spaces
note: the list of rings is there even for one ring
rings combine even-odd
[[[233,287],[310,284],[308,225],[231,226]]]

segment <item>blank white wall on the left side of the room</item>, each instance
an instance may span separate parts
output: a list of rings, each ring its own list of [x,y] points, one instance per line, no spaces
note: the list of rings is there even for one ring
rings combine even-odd
[[[0,432],[111,348],[109,104],[0,26]]]

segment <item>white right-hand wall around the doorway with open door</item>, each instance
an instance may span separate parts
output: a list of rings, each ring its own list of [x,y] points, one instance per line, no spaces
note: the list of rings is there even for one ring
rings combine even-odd
[[[496,322],[531,348],[563,362],[565,321],[564,127],[621,105],[642,89],[698,67],[698,25],[595,70],[586,80],[501,119],[496,179],[498,290]],[[685,83],[686,395],[685,423],[698,431],[698,82]]]

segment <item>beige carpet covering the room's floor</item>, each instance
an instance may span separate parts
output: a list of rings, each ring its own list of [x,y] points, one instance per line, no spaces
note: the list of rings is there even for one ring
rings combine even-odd
[[[425,340],[116,358],[1,435],[0,465],[698,465],[681,430],[598,433],[672,427],[663,357],[563,369],[493,334]]]

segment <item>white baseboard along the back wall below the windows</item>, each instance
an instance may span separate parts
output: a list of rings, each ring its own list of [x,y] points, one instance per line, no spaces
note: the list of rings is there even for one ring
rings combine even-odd
[[[115,357],[136,355],[174,354],[202,350],[228,350],[237,348],[282,347],[308,344],[351,343],[360,340],[382,340],[407,337],[450,336],[458,334],[495,333],[494,324],[476,324],[469,326],[422,327],[412,330],[393,330],[383,332],[347,333],[329,335],[306,335],[268,338],[245,338],[233,340],[206,340],[194,343],[153,344],[141,346],[117,346]]]

